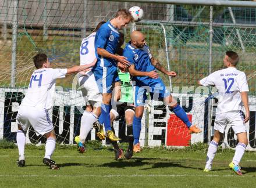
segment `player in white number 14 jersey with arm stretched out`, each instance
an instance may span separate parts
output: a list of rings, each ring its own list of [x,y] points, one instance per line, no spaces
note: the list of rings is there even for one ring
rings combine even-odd
[[[18,131],[16,135],[17,146],[19,149],[18,167],[24,167],[25,156],[24,147],[26,144],[26,131],[29,126],[33,126],[36,133],[44,135],[47,138],[45,144],[45,156],[43,162],[52,169],[59,169],[55,161],[51,160],[52,153],[55,150],[55,132],[48,111],[52,108],[52,96],[55,92],[55,80],[63,78],[66,74],[79,73],[87,71],[95,63],[74,66],[72,68],[49,68],[50,63],[47,55],[39,53],[33,58],[35,70],[30,78],[29,88],[26,96],[20,104],[16,122]]]

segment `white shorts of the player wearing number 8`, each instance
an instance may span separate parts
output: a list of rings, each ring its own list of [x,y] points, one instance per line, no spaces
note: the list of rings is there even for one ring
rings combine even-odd
[[[83,86],[81,89],[83,93],[83,97],[87,102],[102,102],[102,94],[99,93],[99,88],[97,82],[95,81],[95,77],[92,71],[87,73],[87,75],[82,75],[78,79],[79,86]]]

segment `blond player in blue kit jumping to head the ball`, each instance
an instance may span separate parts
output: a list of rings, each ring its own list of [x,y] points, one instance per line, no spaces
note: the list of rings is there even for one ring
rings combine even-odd
[[[122,49],[118,48],[119,29],[126,27],[132,20],[130,12],[126,9],[120,9],[116,16],[103,24],[95,36],[95,52],[97,53],[97,64],[93,68],[95,80],[97,81],[99,92],[102,93],[101,111],[94,111],[94,114],[88,114],[88,121],[92,123],[97,121],[102,113],[104,120],[106,136],[112,141],[120,140],[111,130],[111,121],[109,112],[111,110],[110,102],[112,97],[112,86],[118,78],[118,65],[130,63],[122,55]],[[116,55],[118,53],[119,55]]]

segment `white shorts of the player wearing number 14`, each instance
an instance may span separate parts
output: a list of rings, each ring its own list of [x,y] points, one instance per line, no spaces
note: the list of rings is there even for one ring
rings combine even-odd
[[[44,108],[20,106],[16,117],[16,122],[22,126],[23,131],[27,131],[30,125],[36,133],[44,135],[54,129],[48,111]]]

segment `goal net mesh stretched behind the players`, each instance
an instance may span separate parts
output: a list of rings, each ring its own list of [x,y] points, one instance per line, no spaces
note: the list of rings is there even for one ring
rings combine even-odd
[[[82,0],[1,0],[0,5],[1,139],[16,139],[15,118],[34,70],[34,55],[46,53],[54,68],[78,65],[81,39],[89,35],[99,21],[111,19],[120,8],[140,6],[144,10],[144,17],[136,23],[136,29],[145,34],[152,55],[164,67],[177,73],[177,77],[171,81],[166,75],[160,74],[160,77],[166,86],[172,86],[173,96],[177,97],[193,124],[198,124],[203,130],[199,135],[190,135],[186,126],[173,116],[168,107],[161,102],[148,102],[151,111],[145,110],[140,140],[142,145],[187,146],[190,143],[208,142],[208,135],[212,135],[209,131],[211,126],[208,125],[214,125],[218,99],[205,102],[208,91],[198,88],[197,80],[208,75],[209,69],[214,72],[222,68],[223,55],[230,49],[239,53],[241,60],[237,68],[247,75],[251,120],[246,126],[249,147],[256,147],[254,8],[214,7],[213,19],[209,20],[209,6]],[[212,63],[209,64],[211,21],[213,44]],[[131,25],[122,31],[126,42],[129,41],[130,30]],[[15,43],[16,49],[13,48]],[[51,115],[57,142],[73,143],[74,136],[79,135],[84,99],[81,92],[76,90],[74,75],[57,79],[56,85]],[[115,122],[115,128],[119,135],[124,135],[123,122]],[[95,130],[87,139],[97,139]],[[31,143],[45,142],[45,138],[36,135],[33,128],[27,132],[27,140]],[[236,145],[236,137],[229,127],[226,129],[225,142],[228,147]]]

